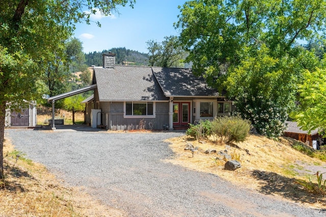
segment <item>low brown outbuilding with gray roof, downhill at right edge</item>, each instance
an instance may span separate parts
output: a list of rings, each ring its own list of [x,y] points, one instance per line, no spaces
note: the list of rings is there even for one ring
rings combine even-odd
[[[297,122],[286,121],[286,124],[287,129],[284,131],[284,136],[286,137],[302,141],[310,146],[312,146],[313,144],[312,141],[317,141],[317,139],[319,138],[318,130],[313,130],[310,134],[308,134],[308,131],[301,130],[297,126]]]

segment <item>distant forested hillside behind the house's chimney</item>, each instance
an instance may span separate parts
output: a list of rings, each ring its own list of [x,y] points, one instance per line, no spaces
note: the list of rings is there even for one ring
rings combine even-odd
[[[129,50],[125,47],[112,48],[101,52],[89,52],[85,54],[86,64],[88,66],[102,66],[102,54],[112,52],[116,55],[116,64],[118,65],[133,65],[133,66],[148,66],[148,54],[138,51]]]

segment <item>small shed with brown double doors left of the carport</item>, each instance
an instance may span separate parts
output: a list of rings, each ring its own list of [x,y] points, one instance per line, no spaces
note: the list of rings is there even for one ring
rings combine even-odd
[[[32,102],[28,108],[14,111],[7,103],[5,127],[35,127],[37,124],[36,103]]]

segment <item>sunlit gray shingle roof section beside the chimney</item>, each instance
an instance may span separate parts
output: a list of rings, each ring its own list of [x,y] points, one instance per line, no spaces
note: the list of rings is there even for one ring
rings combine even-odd
[[[100,101],[165,101],[151,67],[116,66],[115,69],[95,67]]]

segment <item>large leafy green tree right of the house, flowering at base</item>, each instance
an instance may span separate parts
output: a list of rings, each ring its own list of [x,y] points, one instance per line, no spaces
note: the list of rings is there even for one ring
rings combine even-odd
[[[307,67],[305,50],[295,43],[324,35],[326,2],[195,0],[180,12],[175,27],[194,72],[228,90],[259,133],[281,135]]]

